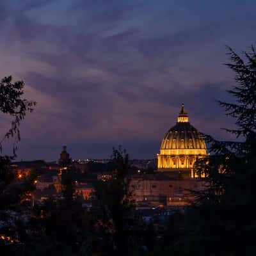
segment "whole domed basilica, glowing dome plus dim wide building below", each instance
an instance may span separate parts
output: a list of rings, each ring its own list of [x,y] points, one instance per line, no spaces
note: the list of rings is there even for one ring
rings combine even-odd
[[[194,197],[191,190],[204,186],[204,173],[198,177],[196,159],[208,156],[204,137],[189,123],[188,114],[181,111],[177,124],[164,136],[160,154],[157,154],[157,170],[154,174],[132,176],[131,189],[137,205],[184,206]]]

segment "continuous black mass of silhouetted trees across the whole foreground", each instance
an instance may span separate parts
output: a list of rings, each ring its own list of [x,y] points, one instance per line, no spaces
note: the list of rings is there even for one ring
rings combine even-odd
[[[218,103],[237,129],[226,129],[237,141],[205,136],[210,156],[196,163],[205,173],[205,189],[164,225],[145,223],[129,189],[131,166],[122,148],[114,148],[111,177],[95,184],[92,207],[85,210],[76,195],[72,168],[62,173],[60,198],[31,205],[37,172],[17,180],[10,163],[17,154],[19,124],[35,102],[23,99],[23,82],[0,83],[0,110],[13,117],[3,140],[13,139],[13,155],[0,157],[1,255],[254,255],[256,251],[256,53],[240,57],[228,48],[235,84],[234,102]],[[242,141],[242,142],[241,142]],[[1,141],[1,145],[3,141]],[[2,149],[2,148],[1,148]],[[157,220],[155,220],[157,221]]]

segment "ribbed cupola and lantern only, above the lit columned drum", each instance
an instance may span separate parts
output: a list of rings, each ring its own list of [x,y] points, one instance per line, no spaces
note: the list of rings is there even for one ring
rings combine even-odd
[[[161,150],[166,149],[206,149],[204,136],[189,124],[184,104],[177,118],[177,124],[166,132]]]

